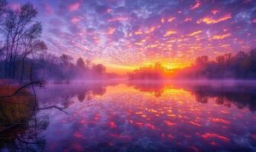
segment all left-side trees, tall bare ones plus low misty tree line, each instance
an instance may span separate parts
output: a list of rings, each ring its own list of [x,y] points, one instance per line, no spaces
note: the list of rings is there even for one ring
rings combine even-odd
[[[0,0],[0,78],[22,83],[31,79],[69,81],[118,76],[107,74],[104,65],[89,60],[78,58],[75,62],[70,55],[48,53],[40,37],[43,26],[36,17],[37,9],[30,3],[13,9]]]

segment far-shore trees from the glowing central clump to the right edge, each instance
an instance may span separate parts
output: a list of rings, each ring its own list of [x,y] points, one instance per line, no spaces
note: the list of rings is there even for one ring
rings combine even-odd
[[[142,67],[128,74],[132,80],[136,79],[254,79],[256,78],[256,49],[249,52],[238,52],[232,55],[231,52],[216,56],[210,60],[208,56],[197,57],[193,65],[181,69],[168,69],[161,64]]]

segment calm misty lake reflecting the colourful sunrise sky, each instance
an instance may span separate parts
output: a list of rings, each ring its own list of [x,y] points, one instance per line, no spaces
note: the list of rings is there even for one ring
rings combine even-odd
[[[39,110],[33,139],[25,127],[0,150],[255,151],[255,90],[250,81],[47,84],[38,106],[64,111]]]

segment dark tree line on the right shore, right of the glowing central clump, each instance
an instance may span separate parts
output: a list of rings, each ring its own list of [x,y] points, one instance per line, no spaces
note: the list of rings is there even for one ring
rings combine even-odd
[[[231,52],[216,56],[210,60],[207,55],[197,57],[195,64],[178,70],[174,73],[176,78],[256,78],[256,49],[248,52]]]

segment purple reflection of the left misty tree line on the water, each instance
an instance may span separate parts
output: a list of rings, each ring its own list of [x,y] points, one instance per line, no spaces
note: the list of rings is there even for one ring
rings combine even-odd
[[[94,96],[102,96],[107,86],[115,86],[118,81],[95,81],[79,82],[73,84],[49,84],[44,88],[38,88],[37,97],[43,104],[61,103],[62,106],[69,106],[73,103],[72,98],[77,97],[79,102],[92,100]]]

